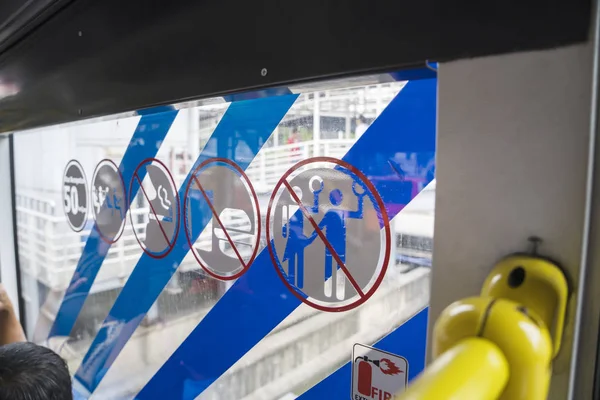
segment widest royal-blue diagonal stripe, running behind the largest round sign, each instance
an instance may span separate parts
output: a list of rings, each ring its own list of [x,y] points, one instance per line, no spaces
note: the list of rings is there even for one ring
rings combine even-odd
[[[435,112],[436,80],[409,82],[343,159],[370,178],[390,219],[416,193],[387,160],[397,153],[432,160]],[[195,399],[299,305],[264,249],[136,398]]]

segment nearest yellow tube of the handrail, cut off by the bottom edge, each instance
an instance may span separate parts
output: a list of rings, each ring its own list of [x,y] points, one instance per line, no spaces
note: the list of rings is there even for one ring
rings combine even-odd
[[[398,400],[496,400],[508,382],[506,357],[487,339],[470,337],[439,356]]]

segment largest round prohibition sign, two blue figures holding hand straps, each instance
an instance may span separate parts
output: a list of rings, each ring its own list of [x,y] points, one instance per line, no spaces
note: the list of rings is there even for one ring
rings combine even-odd
[[[383,279],[390,256],[383,201],[343,161],[319,157],[286,172],[271,195],[266,228],[277,273],[312,307],[354,308]]]

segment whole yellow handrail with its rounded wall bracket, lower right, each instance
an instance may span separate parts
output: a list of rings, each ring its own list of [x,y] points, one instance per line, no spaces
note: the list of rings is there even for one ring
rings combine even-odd
[[[394,398],[546,399],[568,295],[562,270],[550,260],[535,254],[505,258],[480,297],[442,312],[433,330],[434,362]]]

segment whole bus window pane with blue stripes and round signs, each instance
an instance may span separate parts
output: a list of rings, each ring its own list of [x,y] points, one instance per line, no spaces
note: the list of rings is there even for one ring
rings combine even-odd
[[[364,82],[16,133],[28,336],[93,398],[280,399],[394,332],[429,299],[435,83]],[[222,361],[164,375],[190,343]]]

